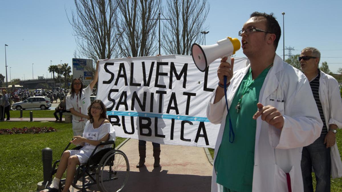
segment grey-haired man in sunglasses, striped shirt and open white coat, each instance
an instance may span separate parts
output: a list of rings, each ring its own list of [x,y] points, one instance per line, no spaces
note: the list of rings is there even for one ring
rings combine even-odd
[[[342,177],[342,162],[336,144],[337,128],[342,127],[339,84],[332,76],[319,70],[320,52],[316,48],[304,48],[298,59],[310,82],[315,104],[323,121],[320,137],[311,145],[303,147],[301,167],[304,191],[313,191],[313,168],[317,181],[316,191],[329,192],[330,173],[333,178]]]

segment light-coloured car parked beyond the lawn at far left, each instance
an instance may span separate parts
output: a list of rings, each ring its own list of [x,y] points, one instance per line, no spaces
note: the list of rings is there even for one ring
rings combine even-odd
[[[49,97],[36,96],[29,97],[21,102],[16,102],[12,105],[12,109],[21,110],[21,109],[33,109],[40,108],[42,110],[49,109],[51,107],[51,102]]]

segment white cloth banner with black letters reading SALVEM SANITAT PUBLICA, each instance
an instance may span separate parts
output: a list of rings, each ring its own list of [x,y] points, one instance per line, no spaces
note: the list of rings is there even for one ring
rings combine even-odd
[[[206,109],[220,60],[208,72],[200,72],[192,56],[101,60],[96,99],[106,105],[118,137],[214,148],[220,125],[209,122]],[[234,71],[247,63],[235,58]]]

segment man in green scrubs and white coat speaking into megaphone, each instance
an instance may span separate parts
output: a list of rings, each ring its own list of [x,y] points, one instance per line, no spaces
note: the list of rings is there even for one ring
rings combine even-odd
[[[275,53],[280,35],[273,14],[254,12],[239,31],[250,64],[233,74],[234,59],[221,60],[207,109],[221,123],[212,191],[303,191],[302,147],[323,123],[304,74]]]

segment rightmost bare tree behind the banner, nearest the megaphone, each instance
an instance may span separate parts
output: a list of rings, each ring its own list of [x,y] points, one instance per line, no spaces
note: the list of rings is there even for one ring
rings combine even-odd
[[[167,0],[167,21],[162,33],[163,50],[167,54],[189,55],[191,45],[201,42],[200,31],[209,12],[207,0]]]

